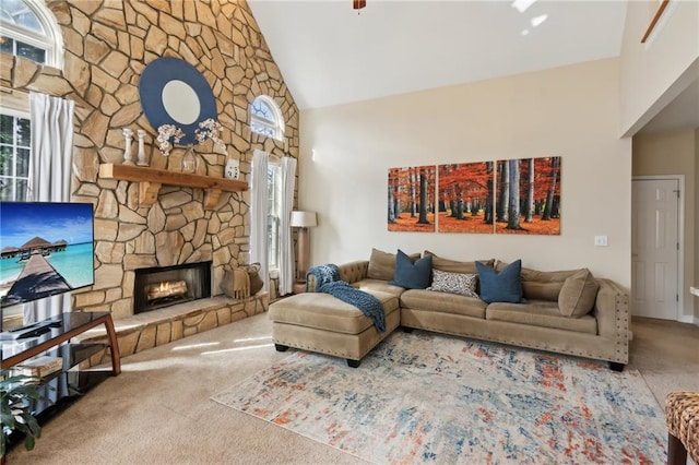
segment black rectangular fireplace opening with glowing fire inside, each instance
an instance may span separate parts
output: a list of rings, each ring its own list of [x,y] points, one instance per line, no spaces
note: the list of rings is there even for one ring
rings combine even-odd
[[[186,263],[135,271],[133,313],[211,297],[211,263]]]

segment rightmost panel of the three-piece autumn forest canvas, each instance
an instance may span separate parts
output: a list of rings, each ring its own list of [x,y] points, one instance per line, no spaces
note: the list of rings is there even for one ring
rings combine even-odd
[[[560,157],[496,163],[496,234],[560,235]]]

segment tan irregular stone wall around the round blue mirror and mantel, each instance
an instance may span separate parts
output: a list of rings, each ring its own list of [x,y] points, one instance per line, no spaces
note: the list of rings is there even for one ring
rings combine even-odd
[[[0,85],[75,102],[72,200],[95,205],[95,285],[73,293],[75,310],[133,314],[134,270],[213,261],[214,295],[226,266],[249,250],[248,191],[224,192],[205,208],[200,189],[163,186],[152,206],[139,204],[135,182],[100,179],[99,164],[123,158],[123,128],[146,131],[151,167],[177,170],[183,148],[157,150],[156,130],[139,98],[139,79],[159,57],[180,58],[209,82],[226,151],[197,145],[199,175],[222,177],[226,157],[249,181],[256,148],[298,156],[298,109],[245,1],[48,1],[63,36],[63,70],[2,53]],[[7,64],[7,65],[5,65]],[[249,107],[269,95],[282,110],[285,138],[249,128]],[[135,152],[135,150],[134,150]]]

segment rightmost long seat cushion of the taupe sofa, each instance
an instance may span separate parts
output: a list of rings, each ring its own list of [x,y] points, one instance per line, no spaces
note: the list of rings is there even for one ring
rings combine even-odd
[[[592,315],[564,317],[556,302],[546,300],[532,300],[528,303],[490,303],[486,309],[485,318],[486,320],[507,321],[531,326],[597,334],[597,321]]]

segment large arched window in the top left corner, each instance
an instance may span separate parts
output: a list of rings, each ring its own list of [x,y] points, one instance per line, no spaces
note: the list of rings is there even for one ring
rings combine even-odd
[[[38,0],[2,0],[0,51],[62,68],[63,40],[54,13]]]

